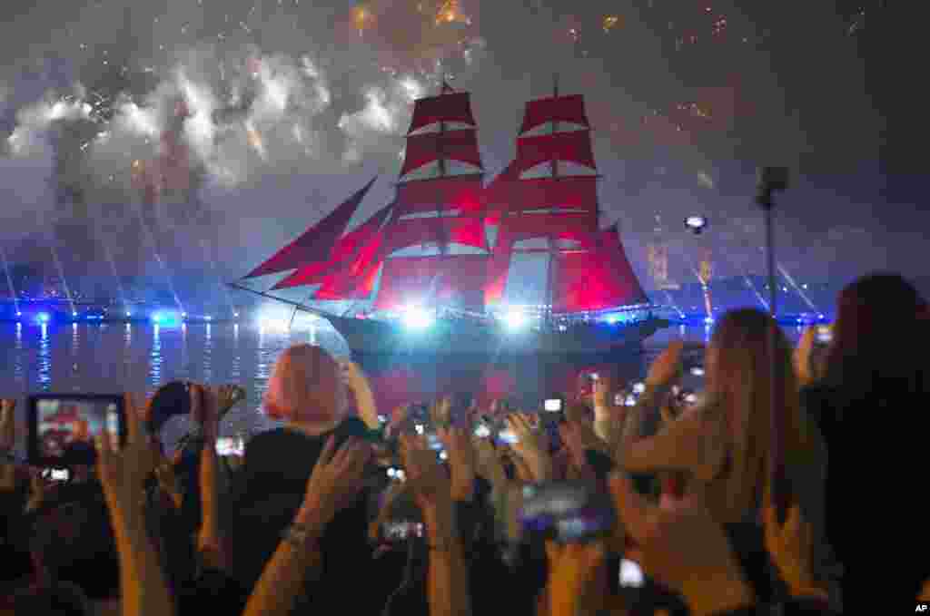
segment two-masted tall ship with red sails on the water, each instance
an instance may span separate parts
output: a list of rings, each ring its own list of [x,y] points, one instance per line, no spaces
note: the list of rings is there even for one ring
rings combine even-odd
[[[599,178],[584,99],[556,85],[485,183],[470,95],[444,84],[414,103],[391,203],[350,229],[371,179],[233,287],[325,317],[359,355],[638,347],[668,323],[600,228]]]

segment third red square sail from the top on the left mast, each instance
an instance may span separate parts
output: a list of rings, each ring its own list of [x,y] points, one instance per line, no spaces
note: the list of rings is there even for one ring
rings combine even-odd
[[[477,214],[484,210],[482,175],[419,179],[397,186],[395,216],[425,212]]]

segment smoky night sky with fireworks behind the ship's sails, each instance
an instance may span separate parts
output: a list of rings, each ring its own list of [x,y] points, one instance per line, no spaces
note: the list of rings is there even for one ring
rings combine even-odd
[[[11,261],[41,260],[50,226],[70,220],[66,268],[100,238],[134,267],[134,170],[158,158],[185,98],[195,178],[162,199],[156,242],[172,269],[235,278],[376,174],[357,220],[387,203],[412,99],[440,79],[472,92],[490,179],[558,72],[586,97],[603,224],[620,221],[645,286],[656,216],[673,277],[692,277],[708,245],[719,275],[763,270],[758,164],[792,170],[777,241],[796,278],[923,275],[922,38],[912,9],[886,4],[7,0],[0,242]],[[62,187],[83,205],[56,203]],[[691,214],[711,219],[699,240],[682,229]]]

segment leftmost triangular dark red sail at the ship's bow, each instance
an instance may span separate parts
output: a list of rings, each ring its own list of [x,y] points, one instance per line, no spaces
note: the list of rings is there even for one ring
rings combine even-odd
[[[365,199],[365,194],[375,183],[375,179],[377,177],[373,177],[365,188],[353,194],[329,216],[304,231],[297,240],[290,242],[272,258],[253,269],[246,278],[267,276],[287,269],[298,269],[308,263],[328,261],[334,244],[349,225],[352,215]]]

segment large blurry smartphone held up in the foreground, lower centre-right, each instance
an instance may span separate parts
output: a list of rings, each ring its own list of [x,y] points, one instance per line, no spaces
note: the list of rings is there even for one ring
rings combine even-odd
[[[524,488],[518,522],[530,541],[586,543],[613,531],[617,514],[604,491],[588,483],[558,481]]]

